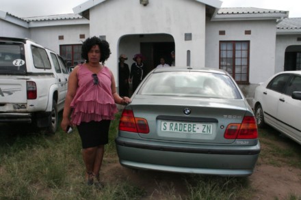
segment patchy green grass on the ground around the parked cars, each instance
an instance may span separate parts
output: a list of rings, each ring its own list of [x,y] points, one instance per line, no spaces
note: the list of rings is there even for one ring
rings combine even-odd
[[[105,147],[104,165],[118,163],[114,139],[118,130],[116,115]],[[271,134],[272,132],[272,134]],[[301,169],[300,145],[280,137],[270,129],[259,129],[264,146],[260,162],[275,166],[289,165]],[[286,145],[278,145],[287,140]],[[272,155],[272,156],[271,156]],[[127,177],[116,177],[97,190],[83,183],[84,165],[77,130],[66,134],[25,132],[22,126],[0,125],[0,199],[252,199],[254,189],[248,177],[179,175],[181,186],[159,179],[151,194]],[[293,161],[291,161],[293,160]],[[138,172],[139,173],[139,172]],[[142,173],[142,172],[141,172]],[[143,173],[140,179],[147,178]],[[183,192],[179,192],[183,190]],[[287,199],[300,199],[289,194]]]

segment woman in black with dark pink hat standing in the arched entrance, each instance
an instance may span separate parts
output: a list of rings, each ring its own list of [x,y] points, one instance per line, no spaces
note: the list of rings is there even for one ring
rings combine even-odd
[[[141,53],[138,53],[133,57],[133,61],[135,62],[131,65],[131,74],[129,79],[130,81],[133,81],[133,92],[146,76],[146,66],[142,60],[144,60],[144,56]]]

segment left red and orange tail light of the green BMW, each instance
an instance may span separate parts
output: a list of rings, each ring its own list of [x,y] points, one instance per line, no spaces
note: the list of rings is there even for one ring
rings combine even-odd
[[[123,110],[119,122],[119,130],[127,132],[148,133],[148,123],[146,119],[134,117],[131,110]]]

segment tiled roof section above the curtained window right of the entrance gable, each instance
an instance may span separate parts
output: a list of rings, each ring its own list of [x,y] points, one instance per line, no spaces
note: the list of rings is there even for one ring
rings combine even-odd
[[[288,11],[270,10],[263,8],[220,8],[212,20],[252,20],[287,18]]]

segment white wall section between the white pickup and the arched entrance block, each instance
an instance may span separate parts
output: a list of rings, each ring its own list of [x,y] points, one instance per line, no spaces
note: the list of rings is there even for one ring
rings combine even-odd
[[[31,28],[31,39],[44,47],[60,53],[61,44],[82,44],[79,34],[90,37],[89,25],[68,25],[55,27]],[[64,35],[64,40],[59,40],[59,35]]]

